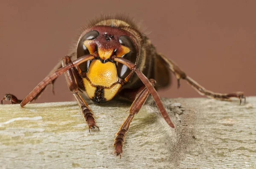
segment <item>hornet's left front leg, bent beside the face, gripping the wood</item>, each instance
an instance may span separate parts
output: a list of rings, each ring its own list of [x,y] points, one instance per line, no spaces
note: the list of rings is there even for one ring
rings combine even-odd
[[[69,56],[66,56],[62,59],[62,66],[66,66],[69,65],[70,63],[72,63],[71,59]],[[84,99],[81,97],[81,95],[78,93],[79,91],[79,85],[76,79],[77,77],[79,77],[78,71],[76,68],[70,68],[69,70],[67,70],[65,72],[65,77],[66,77],[66,81],[67,81],[67,85],[69,87],[69,90],[73,93],[73,95],[76,98],[76,101],[79,104],[79,107],[82,110],[82,113],[84,115],[84,119],[87,122],[88,126],[89,126],[89,132],[91,128],[98,128],[99,127],[96,125],[95,123],[95,119],[94,119],[94,115],[93,112],[90,110],[90,108],[88,107],[88,104],[84,101]]]

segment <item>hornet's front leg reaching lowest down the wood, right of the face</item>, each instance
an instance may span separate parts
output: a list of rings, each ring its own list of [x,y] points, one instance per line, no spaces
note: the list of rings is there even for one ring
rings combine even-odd
[[[156,81],[154,79],[149,79],[149,82],[153,86],[156,84]],[[121,96],[125,96],[126,98],[129,98],[134,101],[131,104],[131,107],[129,110],[130,113],[129,113],[128,117],[125,119],[125,121],[123,122],[119,131],[116,133],[117,136],[116,136],[115,142],[113,144],[115,146],[114,153],[116,155],[120,155],[120,158],[122,155],[122,146],[125,142],[125,136],[127,134],[129,126],[131,124],[131,121],[134,118],[134,115],[136,115],[140,111],[140,108],[145,103],[149,94],[150,94],[150,92],[147,89],[147,87],[145,87],[145,85],[140,87],[138,90],[135,89],[133,92],[131,90],[127,90],[126,92],[121,93]]]

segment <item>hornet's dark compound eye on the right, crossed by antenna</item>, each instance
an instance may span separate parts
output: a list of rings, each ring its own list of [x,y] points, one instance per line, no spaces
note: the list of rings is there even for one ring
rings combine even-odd
[[[136,57],[137,57],[137,50],[136,50],[134,42],[131,40],[131,38],[128,36],[122,35],[119,37],[119,43],[130,49],[130,52],[128,52],[127,54],[124,54],[122,56],[122,58],[135,63]],[[118,63],[117,73],[118,73],[119,78],[125,79],[129,75],[129,73],[131,73],[131,70],[127,66],[125,66],[121,63]]]

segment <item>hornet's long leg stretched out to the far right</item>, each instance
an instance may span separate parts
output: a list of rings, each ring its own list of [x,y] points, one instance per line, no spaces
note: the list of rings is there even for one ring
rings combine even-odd
[[[199,94],[205,95],[209,98],[213,99],[219,99],[219,100],[226,100],[230,101],[232,97],[238,98],[240,100],[244,99],[245,102],[245,96],[243,92],[234,92],[234,93],[215,93],[210,90],[205,89],[201,85],[199,85],[197,82],[195,82],[192,78],[186,75],[185,72],[183,72],[176,64],[170,59],[167,59],[165,56],[159,54],[159,56],[166,62],[166,64],[169,66],[169,69],[175,74],[177,80],[178,80],[178,87],[180,86],[180,79],[184,79],[187,81],[187,83],[193,87]]]

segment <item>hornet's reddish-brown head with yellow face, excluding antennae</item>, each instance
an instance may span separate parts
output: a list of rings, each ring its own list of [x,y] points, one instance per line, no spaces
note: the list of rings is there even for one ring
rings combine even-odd
[[[131,77],[131,70],[111,60],[123,57],[136,63],[140,46],[129,31],[114,25],[95,25],[85,30],[77,44],[77,58],[94,54],[96,59],[79,65],[84,87],[90,99],[105,102],[113,99]]]

